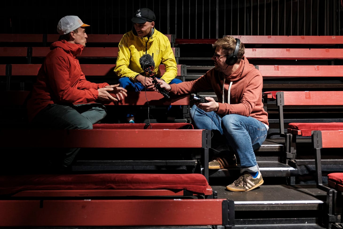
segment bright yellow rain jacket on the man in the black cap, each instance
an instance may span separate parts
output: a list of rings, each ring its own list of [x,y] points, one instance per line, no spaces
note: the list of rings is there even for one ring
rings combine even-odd
[[[133,29],[123,35],[118,49],[118,57],[114,72],[119,77],[129,77],[135,82],[137,75],[144,75],[139,63],[143,54],[150,54],[155,62],[155,77],[159,78],[161,72],[159,65],[164,64],[166,72],[161,79],[170,83],[177,75],[176,60],[167,36],[158,32],[155,28],[153,34],[148,37],[138,37]]]

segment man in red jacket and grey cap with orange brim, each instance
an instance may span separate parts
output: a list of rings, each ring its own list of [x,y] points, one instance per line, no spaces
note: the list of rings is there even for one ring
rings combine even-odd
[[[91,83],[82,73],[76,56],[86,46],[87,26],[77,16],[66,16],[58,22],[57,32],[61,36],[51,44],[27,102],[28,120],[33,127],[93,129],[93,124],[105,118],[107,111],[104,105],[90,102],[118,101],[127,96],[127,90],[119,84]],[[57,155],[54,165],[68,167],[79,150],[68,149],[64,155]]]

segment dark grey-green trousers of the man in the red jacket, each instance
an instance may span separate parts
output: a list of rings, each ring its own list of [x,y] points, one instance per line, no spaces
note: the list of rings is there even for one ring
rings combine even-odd
[[[93,124],[105,118],[106,108],[100,103],[87,103],[78,105],[49,104],[39,111],[31,124],[42,129],[93,129]],[[56,144],[59,144],[56,142]],[[74,160],[80,148],[64,149],[60,154],[56,166],[68,167]]]

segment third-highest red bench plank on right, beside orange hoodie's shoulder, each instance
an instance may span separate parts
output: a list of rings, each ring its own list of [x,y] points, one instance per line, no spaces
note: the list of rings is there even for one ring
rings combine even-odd
[[[263,77],[342,77],[343,65],[258,65]]]

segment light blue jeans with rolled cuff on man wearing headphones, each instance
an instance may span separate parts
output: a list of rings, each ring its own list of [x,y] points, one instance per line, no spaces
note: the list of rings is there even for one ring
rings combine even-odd
[[[193,105],[190,117],[198,129],[218,130],[226,137],[240,160],[240,172],[257,172],[258,165],[254,150],[267,138],[268,128],[259,120],[239,114],[221,116],[214,111],[205,112]]]

